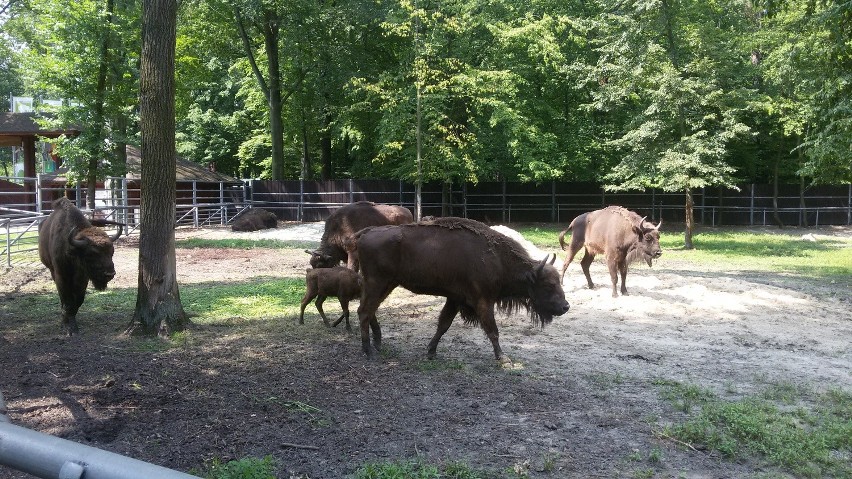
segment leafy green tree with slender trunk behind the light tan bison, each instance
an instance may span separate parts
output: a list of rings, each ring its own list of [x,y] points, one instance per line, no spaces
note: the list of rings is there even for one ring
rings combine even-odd
[[[736,6],[736,0],[633,0],[600,18],[600,59],[588,78],[601,86],[593,107],[631,115],[625,133],[610,142],[622,158],[605,176],[607,187],[683,192],[687,249],[693,248],[693,191],[733,186],[727,145],[748,131],[738,118],[744,107],[738,85],[727,75],[742,63],[726,34],[740,31]]]

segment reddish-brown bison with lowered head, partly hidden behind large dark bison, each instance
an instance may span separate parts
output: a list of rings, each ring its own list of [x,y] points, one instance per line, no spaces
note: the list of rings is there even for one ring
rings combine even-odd
[[[347,261],[346,239],[368,226],[403,225],[414,221],[408,208],[394,205],[377,205],[370,201],[348,204],[328,217],[325,231],[316,251],[311,255],[311,266],[330,268]]]

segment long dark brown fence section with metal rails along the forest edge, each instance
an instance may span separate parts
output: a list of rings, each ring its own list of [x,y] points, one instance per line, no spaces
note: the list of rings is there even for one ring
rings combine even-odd
[[[774,224],[770,185],[693,192],[696,221],[708,226]],[[320,221],[338,207],[368,200],[414,207],[414,186],[399,181],[332,180],[246,182],[246,199],[292,221]],[[812,226],[852,224],[852,185],[810,188],[799,206],[798,186],[780,188],[778,213],[783,222]],[[487,223],[569,222],[577,215],[607,205],[621,205],[654,220],[683,222],[683,193],[659,190],[608,193],[589,183],[543,184],[481,182],[453,189],[427,184],[422,189],[423,215],[453,215]]]

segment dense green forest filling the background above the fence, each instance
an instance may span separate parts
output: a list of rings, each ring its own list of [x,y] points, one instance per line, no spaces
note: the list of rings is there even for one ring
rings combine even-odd
[[[140,0],[0,0],[72,176],[139,143]],[[238,178],[852,182],[843,0],[184,0],[177,151]],[[3,102],[0,107],[6,109]],[[417,159],[421,161],[417,161]]]

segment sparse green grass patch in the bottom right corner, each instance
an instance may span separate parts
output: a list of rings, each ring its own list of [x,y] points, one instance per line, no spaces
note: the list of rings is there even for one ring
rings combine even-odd
[[[664,434],[731,460],[759,457],[799,477],[850,477],[852,393],[832,389],[815,399],[806,394],[781,385],[729,401],[697,386],[666,383],[662,396],[693,414]]]

